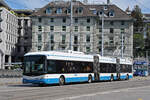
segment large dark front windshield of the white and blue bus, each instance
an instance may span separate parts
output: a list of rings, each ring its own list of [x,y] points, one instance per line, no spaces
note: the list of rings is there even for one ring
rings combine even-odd
[[[24,58],[24,75],[41,75],[45,69],[45,56],[26,56]]]

